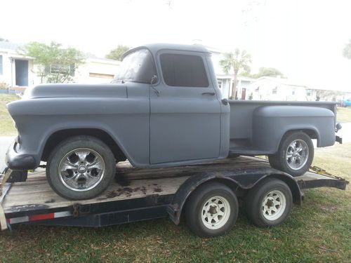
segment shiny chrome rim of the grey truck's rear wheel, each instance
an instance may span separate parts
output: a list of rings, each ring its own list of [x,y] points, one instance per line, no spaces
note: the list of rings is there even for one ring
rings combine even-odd
[[[294,140],[286,151],[286,163],[289,168],[299,170],[307,163],[308,154],[307,143],[304,140]]]

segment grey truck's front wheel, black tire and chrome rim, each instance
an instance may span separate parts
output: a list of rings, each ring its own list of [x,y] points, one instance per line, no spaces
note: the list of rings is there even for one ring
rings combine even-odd
[[[68,199],[98,196],[114,178],[114,155],[107,145],[91,136],[70,137],[51,152],[46,177],[51,188]]]

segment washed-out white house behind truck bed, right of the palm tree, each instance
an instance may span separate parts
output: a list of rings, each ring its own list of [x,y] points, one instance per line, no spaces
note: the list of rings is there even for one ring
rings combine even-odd
[[[289,79],[262,76],[249,84],[246,90],[251,100],[312,100],[307,86]]]

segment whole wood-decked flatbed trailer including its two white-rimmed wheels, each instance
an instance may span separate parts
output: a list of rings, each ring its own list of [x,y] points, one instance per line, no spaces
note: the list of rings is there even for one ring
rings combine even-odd
[[[292,203],[301,204],[303,189],[345,189],[347,181],[321,173],[292,177],[249,156],[157,169],[125,161],[117,163],[115,182],[102,194],[69,201],[55,194],[38,168],[25,182],[2,184],[0,223],[3,230],[15,224],[104,227],[162,217],[179,224],[184,217],[194,234],[218,236],[234,227],[239,206],[259,227],[274,226],[284,222]]]

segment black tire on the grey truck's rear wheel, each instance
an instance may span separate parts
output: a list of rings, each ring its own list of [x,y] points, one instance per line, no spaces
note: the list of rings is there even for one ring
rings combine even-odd
[[[304,150],[303,152],[307,151],[308,154],[306,161],[303,162],[304,164],[301,163],[301,166],[299,167],[297,165],[298,167],[296,168],[292,168],[291,164],[289,165],[286,159],[289,145],[291,145],[293,142],[304,143],[305,146],[307,146],[307,150]],[[306,173],[308,168],[310,168],[313,157],[314,147],[310,136],[303,132],[289,132],[283,136],[277,154],[268,156],[268,159],[270,160],[270,166],[272,166],[272,168],[282,170],[283,172],[289,173],[289,175],[292,176],[300,176]]]

